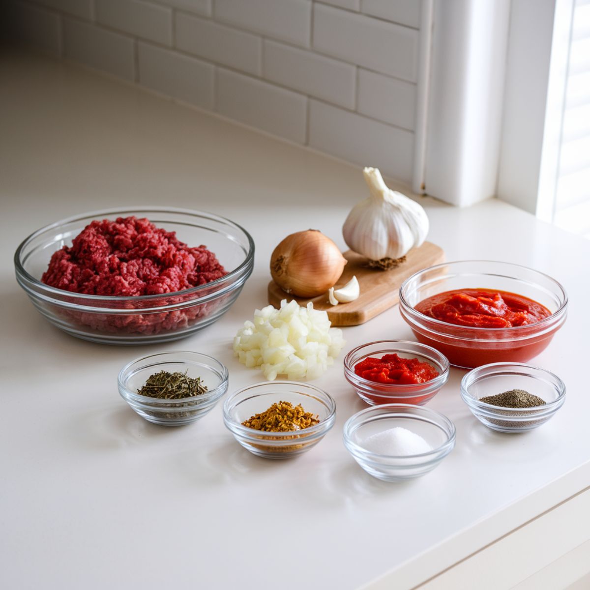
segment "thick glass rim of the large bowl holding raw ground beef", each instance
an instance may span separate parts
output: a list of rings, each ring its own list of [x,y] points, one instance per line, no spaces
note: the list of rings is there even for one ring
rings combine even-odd
[[[133,215],[134,211],[142,211],[142,212],[158,212],[158,213],[179,213],[185,215],[193,215],[197,217],[205,217],[209,219],[215,219],[215,221],[224,221],[227,224],[237,228],[244,232],[245,237],[248,240],[248,251],[246,253],[245,260],[236,268],[224,274],[224,276],[216,278],[214,281],[210,283],[205,283],[202,285],[197,285],[196,287],[191,287],[191,289],[184,289],[182,291],[171,291],[170,293],[158,293],[155,295],[91,295],[87,293],[76,293],[75,291],[66,291],[64,289],[57,289],[57,287],[51,287],[42,283],[40,280],[32,276],[28,273],[27,270],[22,266],[21,263],[21,253],[24,250],[25,246],[33,240],[38,235],[46,232],[48,230],[54,230],[55,228],[60,227],[60,225],[65,225],[71,223],[73,221],[78,221],[79,219],[84,219],[86,217],[99,217],[100,215],[113,215],[113,214],[120,214],[120,213],[128,213]],[[214,253],[215,254],[215,253]],[[116,207],[114,209],[100,209],[99,211],[90,211],[83,214],[71,215],[70,217],[66,217],[64,219],[60,219],[59,221],[55,221],[52,224],[44,225],[40,229],[32,232],[29,234],[22,242],[18,245],[17,250],[14,253],[14,266],[17,270],[17,273],[24,277],[27,281],[34,284],[37,287],[40,287],[43,291],[47,293],[53,293],[58,296],[72,296],[76,297],[76,299],[86,300],[90,302],[93,301],[151,301],[162,299],[163,297],[175,297],[175,296],[185,296],[188,294],[198,293],[201,290],[208,289],[212,286],[216,286],[217,284],[221,283],[222,281],[228,280],[235,280],[238,276],[242,274],[245,268],[250,266],[254,260],[254,240],[250,233],[245,230],[241,225],[235,223],[235,221],[231,221],[227,217],[222,217],[222,215],[217,215],[215,213],[210,213],[208,211],[199,211],[198,209],[185,209],[181,207],[161,207],[159,205],[146,205],[145,207]],[[84,306],[83,303],[79,304],[81,307]]]

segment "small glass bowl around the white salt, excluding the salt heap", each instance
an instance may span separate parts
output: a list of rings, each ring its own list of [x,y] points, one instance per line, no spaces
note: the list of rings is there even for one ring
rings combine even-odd
[[[363,439],[389,428],[418,434],[431,451],[419,455],[382,455],[363,448]],[[409,404],[383,404],[357,412],[343,428],[344,445],[369,475],[383,481],[402,481],[432,471],[453,450],[455,426],[446,416]]]

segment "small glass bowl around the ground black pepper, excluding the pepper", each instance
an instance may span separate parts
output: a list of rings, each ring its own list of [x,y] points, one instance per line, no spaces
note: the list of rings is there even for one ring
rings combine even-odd
[[[524,389],[545,401],[533,408],[501,408],[479,401],[510,389]],[[500,432],[525,432],[548,421],[565,401],[565,384],[557,375],[524,363],[491,363],[461,379],[461,397],[473,415]]]

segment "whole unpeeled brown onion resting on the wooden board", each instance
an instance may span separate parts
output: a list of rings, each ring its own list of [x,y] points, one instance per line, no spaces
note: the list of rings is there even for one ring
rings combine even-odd
[[[337,245],[321,231],[298,231],[274,249],[270,274],[286,293],[317,297],[336,284],[346,262]]]

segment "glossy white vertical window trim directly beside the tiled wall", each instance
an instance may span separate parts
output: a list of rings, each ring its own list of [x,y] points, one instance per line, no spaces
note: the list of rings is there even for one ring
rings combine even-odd
[[[422,16],[412,188],[471,205],[496,194],[510,0],[434,0]]]

